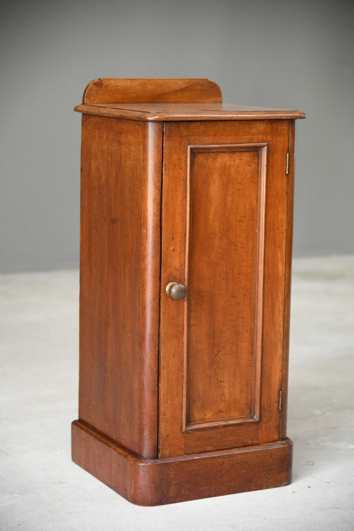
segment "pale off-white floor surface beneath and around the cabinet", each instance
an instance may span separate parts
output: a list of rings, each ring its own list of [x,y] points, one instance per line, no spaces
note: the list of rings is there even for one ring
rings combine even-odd
[[[293,264],[293,482],[136,507],[74,465],[77,271],[0,276],[0,529],[353,531],[354,256]]]

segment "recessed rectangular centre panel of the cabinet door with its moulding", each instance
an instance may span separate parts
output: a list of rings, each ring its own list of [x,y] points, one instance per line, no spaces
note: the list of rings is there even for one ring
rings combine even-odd
[[[190,149],[185,429],[196,429],[259,415],[266,144]]]

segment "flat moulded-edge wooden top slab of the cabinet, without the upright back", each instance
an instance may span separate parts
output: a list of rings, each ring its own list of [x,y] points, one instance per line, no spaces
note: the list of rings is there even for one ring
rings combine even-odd
[[[97,103],[77,105],[75,110],[84,114],[114,116],[131,120],[153,122],[180,122],[199,120],[279,120],[306,118],[298,110],[266,109],[225,103],[214,104],[123,104]]]

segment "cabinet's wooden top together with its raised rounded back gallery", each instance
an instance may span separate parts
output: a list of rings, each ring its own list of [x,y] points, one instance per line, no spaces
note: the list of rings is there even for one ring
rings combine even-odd
[[[306,118],[298,110],[224,104],[220,87],[199,78],[99,78],[87,85],[75,110],[153,122]]]

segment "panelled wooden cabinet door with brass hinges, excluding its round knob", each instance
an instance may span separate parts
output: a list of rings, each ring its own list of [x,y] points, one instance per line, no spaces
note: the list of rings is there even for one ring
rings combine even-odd
[[[289,121],[164,131],[159,455],[277,441]]]

